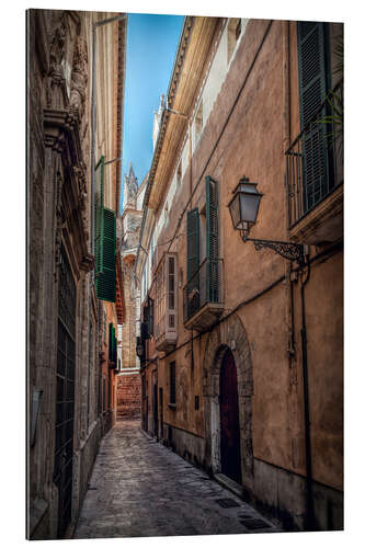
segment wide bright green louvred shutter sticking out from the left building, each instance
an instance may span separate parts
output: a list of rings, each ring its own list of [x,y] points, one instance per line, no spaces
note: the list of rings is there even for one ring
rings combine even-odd
[[[115,302],[116,219],[115,213],[112,209],[104,207],[103,222],[103,271],[96,277],[96,296],[101,300]]]

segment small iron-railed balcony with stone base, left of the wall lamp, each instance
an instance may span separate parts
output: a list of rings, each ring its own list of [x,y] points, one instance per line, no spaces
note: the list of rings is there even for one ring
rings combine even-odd
[[[205,331],[224,311],[223,260],[205,259],[183,289],[184,326]]]

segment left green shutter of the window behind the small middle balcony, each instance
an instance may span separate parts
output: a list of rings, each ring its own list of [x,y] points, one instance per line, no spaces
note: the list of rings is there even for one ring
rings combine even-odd
[[[199,308],[199,212],[197,207],[186,214],[186,274],[187,274],[187,317],[191,318]]]

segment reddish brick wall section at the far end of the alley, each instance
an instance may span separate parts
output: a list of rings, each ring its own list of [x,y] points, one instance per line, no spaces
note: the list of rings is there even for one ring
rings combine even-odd
[[[141,384],[139,373],[118,375],[117,378],[117,420],[139,419]]]

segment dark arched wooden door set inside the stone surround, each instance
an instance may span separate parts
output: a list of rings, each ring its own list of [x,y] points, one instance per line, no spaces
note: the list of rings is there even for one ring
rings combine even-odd
[[[231,351],[223,357],[220,376],[220,466],[221,473],[238,483],[241,477],[240,424],[237,368]]]

